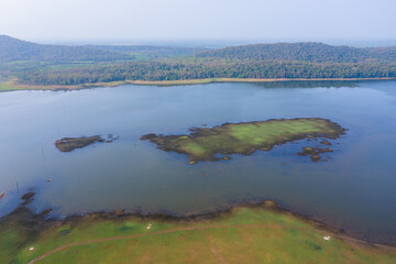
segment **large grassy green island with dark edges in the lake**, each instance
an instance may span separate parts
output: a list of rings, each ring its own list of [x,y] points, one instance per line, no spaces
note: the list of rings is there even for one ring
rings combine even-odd
[[[320,118],[273,119],[267,121],[223,123],[213,128],[190,129],[191,133],[182,135],[146,134],[148,140],[163,151],[186,154],[190,164],[198,161],[229,160],[227,155],[251,155],[256,150],[271,151],[274,145],[304,139],[337,139],[345,133],[338,123]],[[321,153],[332,152],[327,147],[304,147],[300,155],[310,155],[312,162],[320,160]],[[221,154],[222,157],[217,155]]]

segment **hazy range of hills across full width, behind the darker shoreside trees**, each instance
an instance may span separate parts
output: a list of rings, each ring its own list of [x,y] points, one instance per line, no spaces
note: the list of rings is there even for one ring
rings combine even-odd
[[[150,45],[42,45],[0,35],[0,63],[29,62],[114,62],[124,59],[198,58],[222,62],[300,63],[395,63],[396,46],[351,47],[323,43],[275,43],[208,50]]]

